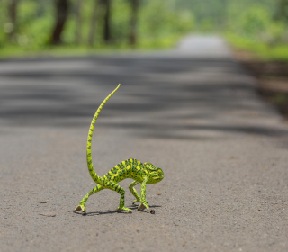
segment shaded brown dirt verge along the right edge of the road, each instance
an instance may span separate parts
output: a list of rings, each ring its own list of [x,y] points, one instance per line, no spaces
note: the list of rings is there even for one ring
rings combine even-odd
[[[234,56],[257,77],[260,96],[288,121],[288,62],[264,61],[245,50],[234,51]]]

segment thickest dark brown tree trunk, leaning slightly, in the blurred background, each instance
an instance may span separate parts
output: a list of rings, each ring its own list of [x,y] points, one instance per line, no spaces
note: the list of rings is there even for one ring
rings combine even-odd
[[[52,45],[62,44],[61,34],[67,21],[69,3],[68,0],[56,0],[56,21],[52,32],[50,43]]]

